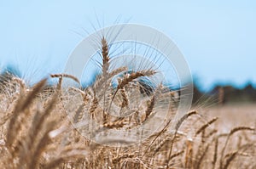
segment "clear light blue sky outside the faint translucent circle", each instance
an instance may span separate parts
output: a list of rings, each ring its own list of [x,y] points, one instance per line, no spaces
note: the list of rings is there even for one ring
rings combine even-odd
[[[149,25],[176,42],[201,86],[256,83],[256,1],[1,1],[0,67],[61,72],[93,26]],[[104,24],[102,24],[104,23]],[[84,31],[85,30],[85,31]]]

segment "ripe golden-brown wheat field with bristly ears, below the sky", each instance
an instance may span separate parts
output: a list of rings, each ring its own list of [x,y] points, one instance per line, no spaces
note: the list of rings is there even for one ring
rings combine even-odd
[[[157,70],[109,70],[104,37],[101,44],[102,74],[89,87],[63,87],[64,79],[79,83],[67,74],[32,87],[12,77],[1,86],[1,168],[256,168],[253,105],[201,107],[173,121],[176,92],[139,81]],[[49,78],[58,79],[55,87]],[[130,130],[137,132],[108,138]]]

